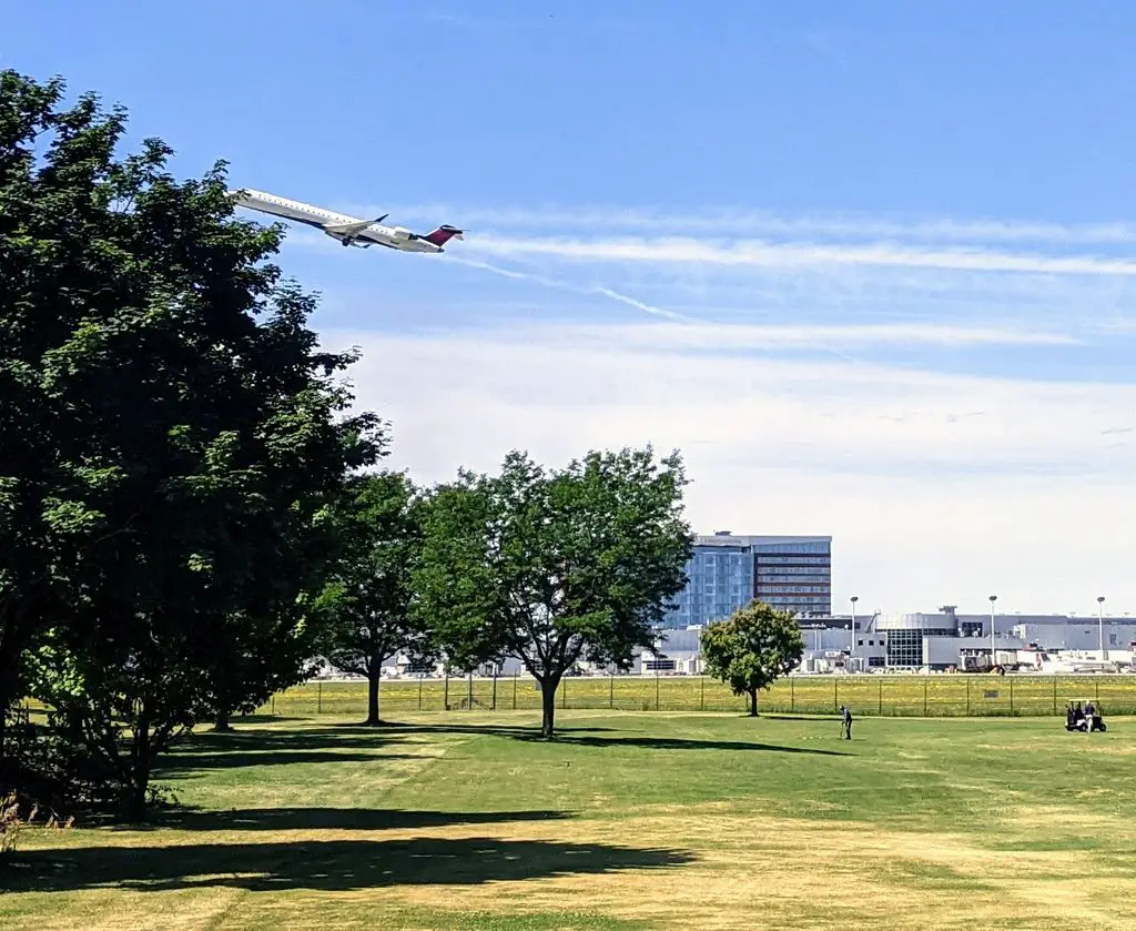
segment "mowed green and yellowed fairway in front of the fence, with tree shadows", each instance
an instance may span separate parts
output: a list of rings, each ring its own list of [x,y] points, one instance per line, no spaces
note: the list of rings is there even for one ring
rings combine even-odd
[[[1136,928],[1136,720],[398,720],[194,737],[161,825],[24,834],[0,928]]]

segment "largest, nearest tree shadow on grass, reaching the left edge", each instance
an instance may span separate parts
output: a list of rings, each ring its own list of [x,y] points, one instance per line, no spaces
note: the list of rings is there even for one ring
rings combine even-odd
[[[688,853],[661,848],[495,838],[86,847],[20,853],[5,881],[9,891],[36,892],[95,888],[346,891],[659,870],[693,859]]]

